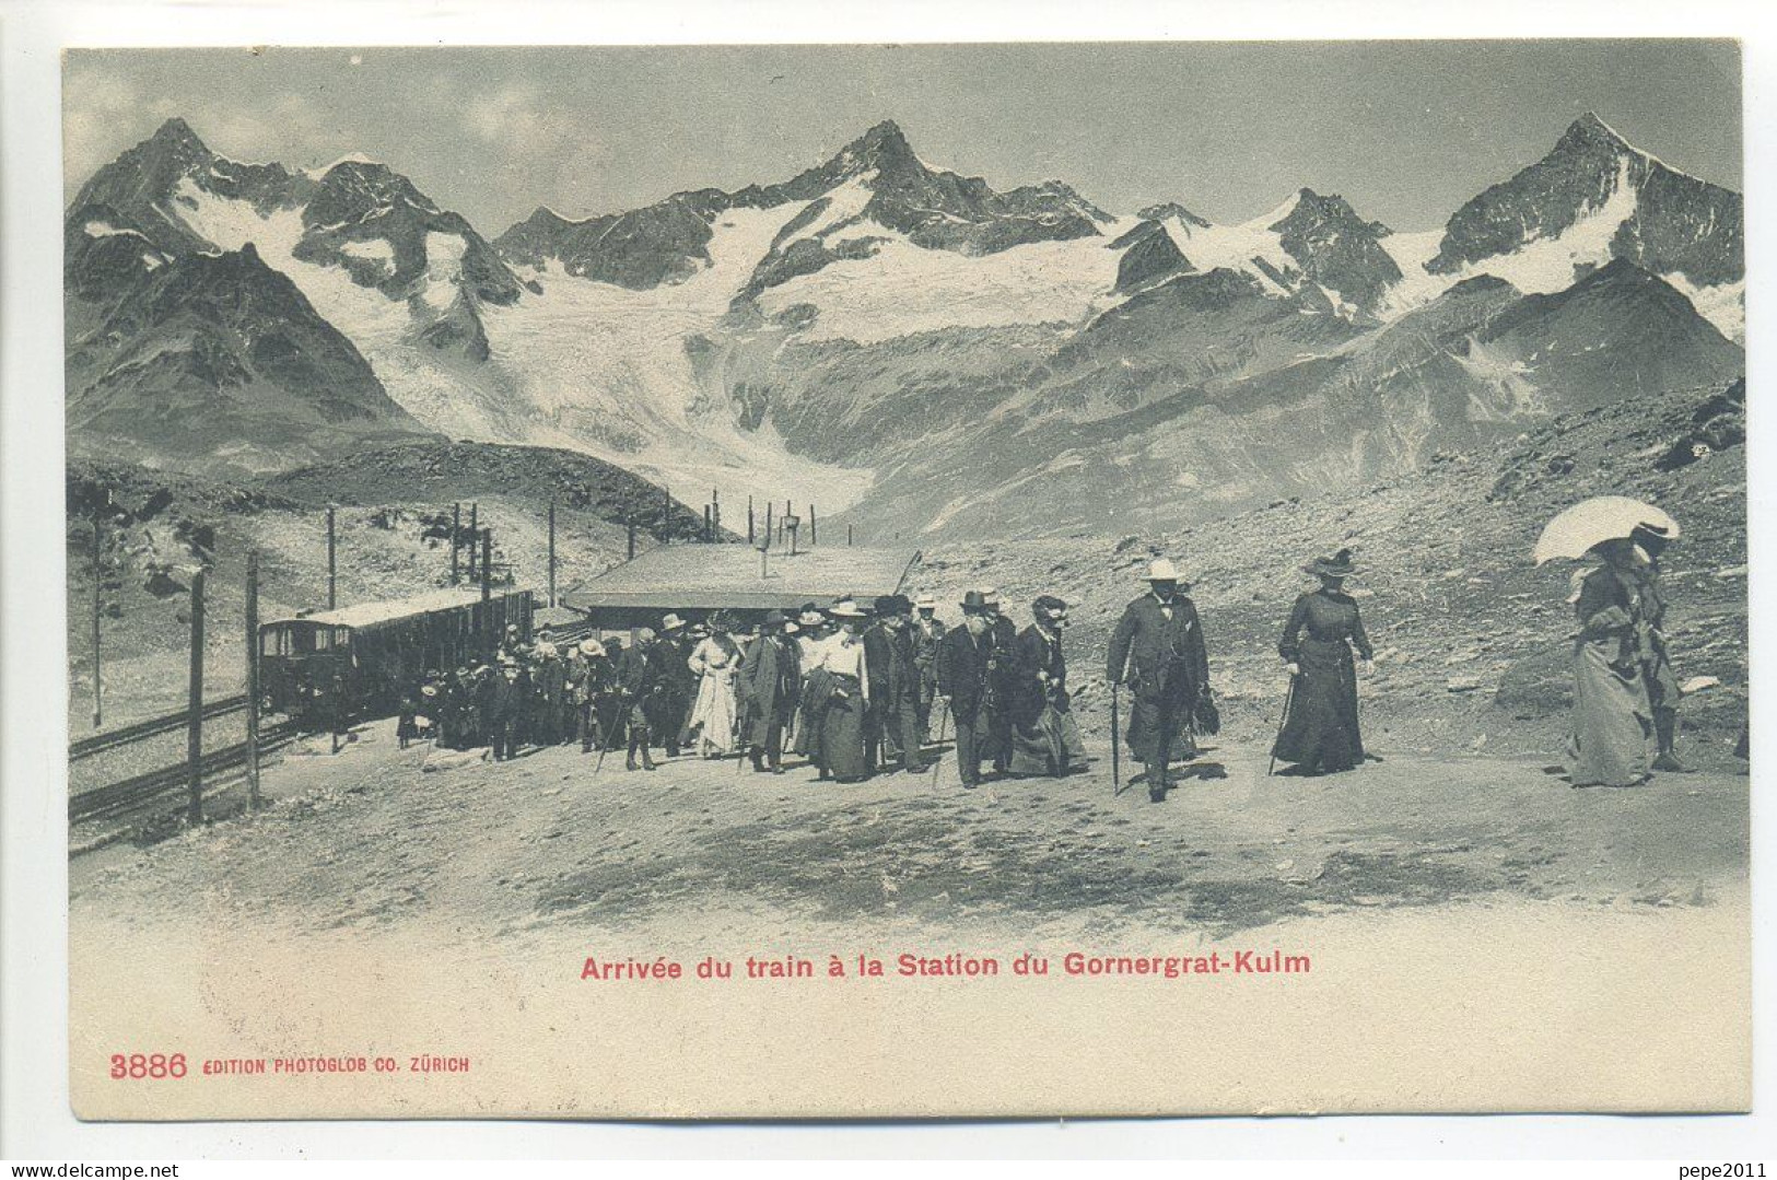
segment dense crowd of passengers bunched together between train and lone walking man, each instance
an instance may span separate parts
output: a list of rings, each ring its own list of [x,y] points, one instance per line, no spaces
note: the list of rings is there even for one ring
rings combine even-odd
[[[521,746],[622,748],[631,771],[656,769],[656,750],[745,759],[755,773],[784,773],[785,755],[801,755],[823,780],[857,782],[885,768],[924,773],[936,714],[936,739],[956,739],[965,787],[984,773],[1084,766],[1061,649],[1066,604],[1036,599],[1024,631],[992,590],[960,606],[956,627],[938,620],[933,599],[906,595],[867,608],[809,602],[757,622],[668,613],[627,645],[558,643],[549,629],[522,642],[512,627],[489,663],[428,672],[403,697],[396,736],[403,748],[421,738],[490,746],[496,761]]]

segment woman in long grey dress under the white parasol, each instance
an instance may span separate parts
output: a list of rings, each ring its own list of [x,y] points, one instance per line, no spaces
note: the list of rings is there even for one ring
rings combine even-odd
[[[1594,549],[1603,565],[1578,576],[1571,599],[1580,633],[1573,645],[1573,730],[1567,777],[1576,787],[1633,787],[1653,771],[1654,716],[1642,675],[1649,597],[1630,540]]]

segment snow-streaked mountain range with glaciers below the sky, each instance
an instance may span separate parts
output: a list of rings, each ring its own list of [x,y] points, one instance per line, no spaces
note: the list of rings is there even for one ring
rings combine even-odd
[[[169,123],[82,188],[68,240],[71,405],[133,387],[87,338],[107,300],[251,243],[396,416],[323,334],[297,348],[347,366],[384,425],[787,492],[903,535],[1029,528],[1015,505],[1038,485],[1079,498],[1068,519],[1128,496],[1214,515],[1413,469],[1599,403],[1626,373],[1741,366],[1711,327],[1738,309],[1738,195],[1596,117],[1438,235],[1311,188],[1240,226],[1178,203],[1112,217],[1059,181],[1000,192],[936,169],[881,123],[782,183],[538,210],[492,242],[386,165],[238,165]],[[331,370],[279,368],[297,371]],[[316,400],[313,418],[338,411]]]

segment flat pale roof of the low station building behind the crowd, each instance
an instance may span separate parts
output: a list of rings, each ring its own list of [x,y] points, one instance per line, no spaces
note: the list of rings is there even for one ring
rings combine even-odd
[[[826,606],[848,594],[867,604],[899,592],[915,562],[917,549],[775,549],[761,576],[759,549],[752,546],[661,546],[570,586],[560,601],[578,611],[784,610]]]

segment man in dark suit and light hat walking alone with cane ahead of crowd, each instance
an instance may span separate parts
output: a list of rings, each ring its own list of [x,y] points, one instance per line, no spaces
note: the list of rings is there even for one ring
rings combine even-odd
[[[1148,567],[1148,594],[1128,604],[1111,633],[1105,679],[1127,679],[1136,691],[1128,746],[1146,766],[1148,798],[1162,803],[1173,741],[1189,725],[1198,698],[1210,691],[1198,608],[1178,592],[1178,570],[1166,558]]]

